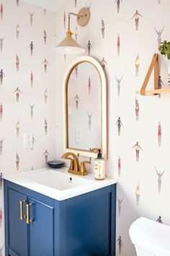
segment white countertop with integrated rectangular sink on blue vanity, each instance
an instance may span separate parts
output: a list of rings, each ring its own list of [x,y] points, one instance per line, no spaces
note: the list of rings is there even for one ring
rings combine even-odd
[[[61,201],[116,184],[115,179],[94,179],[93,174],[79,176],[68,173],[68,168],[38,168],[16,174],[3,175],[9,182],[32,189],[42,195]],[[71,180],[72,179],[72,180]]]

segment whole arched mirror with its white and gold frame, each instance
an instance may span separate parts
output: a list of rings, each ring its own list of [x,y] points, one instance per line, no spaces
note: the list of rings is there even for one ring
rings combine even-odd
[[[107,159],[107,78],[91,56],[71,62],[63,79],[64,151]]]

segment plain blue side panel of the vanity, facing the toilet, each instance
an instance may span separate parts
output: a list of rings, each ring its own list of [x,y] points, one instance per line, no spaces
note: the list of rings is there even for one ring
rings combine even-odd
[[[55,256],[115,256],[116,184],[55,200],[54,207]]]

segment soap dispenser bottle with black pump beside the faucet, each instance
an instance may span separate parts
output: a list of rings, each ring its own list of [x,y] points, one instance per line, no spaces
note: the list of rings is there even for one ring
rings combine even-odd
[[[98,150],[97,158],[94,159],[94,178],[95,179],[104,179],[105,177],[105,161],[102,158],[101,150]]]

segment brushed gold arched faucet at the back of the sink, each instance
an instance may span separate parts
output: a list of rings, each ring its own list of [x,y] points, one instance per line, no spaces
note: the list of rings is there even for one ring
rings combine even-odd
[[[73,158],[70,158],[69,156],[72,156]],[[86,175],[87,172],[86,172],[86,168],[85,168],[85,163],[91,163],[89,161],[83,161],[81,162],[81,165],[79,163],[79,158],[74,154],[74,153],[71,153],[71,152],[68,152],[68,153],[65,153],[62,155],[62,158],[64,159],[68,159],[71,161],[71,165],[68,169],[68,172],[71,173],[71,174],[77,174],[77,175]]]

